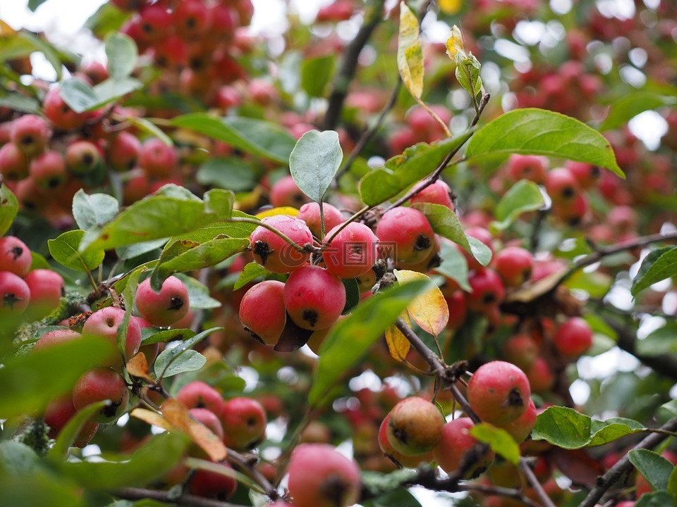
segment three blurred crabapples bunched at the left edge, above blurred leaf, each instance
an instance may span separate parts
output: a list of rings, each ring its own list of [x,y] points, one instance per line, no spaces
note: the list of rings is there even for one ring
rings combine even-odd
[[[49,269],[31,270],[32,254],[18,237],[0,238],[0,314],[18,323],[42,318],[59,306],[63,278]],[[23,316],[26,316],[23,315]]]

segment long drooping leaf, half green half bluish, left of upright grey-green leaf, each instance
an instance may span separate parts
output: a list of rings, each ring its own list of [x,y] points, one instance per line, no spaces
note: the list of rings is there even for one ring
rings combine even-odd
[[[191,113],[171,120],[175,127],[183,127],[219,139],[233,148],[286,164],[295,140],[287,130],[276,123],[252,118],[217,118],[206,113]]]

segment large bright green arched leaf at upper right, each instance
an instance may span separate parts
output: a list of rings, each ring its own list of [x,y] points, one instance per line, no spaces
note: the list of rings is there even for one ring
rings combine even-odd
[[[602,134],[575,118],[544,109],[516,109],[499,116],[477,130],[465,150],[468,160],[494,154],[568,158],[625,177]]]

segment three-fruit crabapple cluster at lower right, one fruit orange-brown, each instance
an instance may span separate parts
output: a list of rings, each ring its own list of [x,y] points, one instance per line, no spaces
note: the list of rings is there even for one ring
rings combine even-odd
[[[536,424],[536,407],[525,373],[506,361],[491,361],[477,368],[467,387],[472,413],[482,423],[508,432],[523,442]],[[434,403],[418,396],[399,401],[379,429],[382,451],[402,466],[437,464],[446,473],[475,477],[494,460],[494,453],[480,447],[470,433],[470,415],[448,423]]]

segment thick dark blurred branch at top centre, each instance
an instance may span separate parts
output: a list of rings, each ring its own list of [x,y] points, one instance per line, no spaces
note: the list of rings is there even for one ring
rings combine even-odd
[[[355,77],[355,70],[358,67],[358,58],[362,49],[367,45],[372,33],[381,23],[382,10],[385,0],[374,0],[365,8],[365,23],[360,27],[358,35],[350,41],[350,44],[343,50],[343,61],[338,70],[334,82],[332,83],[331,95],[329,96],[329,106],[324,115],[324,130],[334,130],[338,125],[343,110],[343,101],[348,95],[350,82]]]

